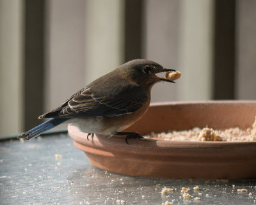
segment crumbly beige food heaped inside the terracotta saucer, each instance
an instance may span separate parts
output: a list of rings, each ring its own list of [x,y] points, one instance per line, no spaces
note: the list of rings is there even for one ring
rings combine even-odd
[[[191,130],[150,133],[145,138],[164,140],[186,141],[227,141],[227,142],[250,142],[256,140],[256,117],[252,128],[241,130],[240,128],[228,128],[226,130],[214,130],[212,128],[193,128]]]

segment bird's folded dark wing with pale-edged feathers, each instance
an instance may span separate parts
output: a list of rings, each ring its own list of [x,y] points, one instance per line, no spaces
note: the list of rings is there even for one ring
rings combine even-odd
[[[41,118],[118,116],[140,109],[147,100],[147,92],[134,84],[111,86],[108,89],[85,87],[68,98],[61,107],[42,115]]]

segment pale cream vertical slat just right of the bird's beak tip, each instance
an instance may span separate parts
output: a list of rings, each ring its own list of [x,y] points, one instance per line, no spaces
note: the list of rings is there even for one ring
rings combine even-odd
[[[182,0],[179,100],[212,98],[213,0]],[[181,80],[180,80],[181,81]]]

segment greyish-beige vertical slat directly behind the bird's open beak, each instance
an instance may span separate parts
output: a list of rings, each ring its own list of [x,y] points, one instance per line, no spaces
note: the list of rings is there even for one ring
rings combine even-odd
[[[143,1],[143,6],[143,58],[156,61],[167,68],[180,70],[180,1],[147,0]],[[177,100],[177,90],[182,84],[182,79],[183,76],[177,84],[157,83],[152,88],[151,102]]]

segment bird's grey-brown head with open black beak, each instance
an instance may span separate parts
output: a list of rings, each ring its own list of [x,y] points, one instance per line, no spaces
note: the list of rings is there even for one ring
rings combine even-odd
[[[124,70],[125,75],[129,76],[129,79],[133,82],[147,87],[151,87],[156,82],[160,81],[173,82],[172,80],[157,75],[163,72],[175,72],[173,69],[163,68],[163,66],[158,63],[145,59],[129,61],[122,65],[121,68]]]

